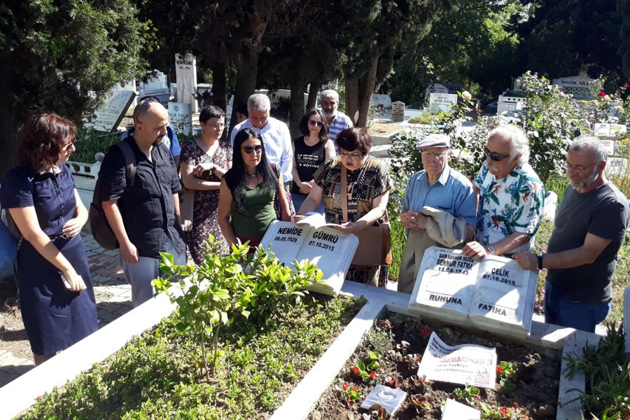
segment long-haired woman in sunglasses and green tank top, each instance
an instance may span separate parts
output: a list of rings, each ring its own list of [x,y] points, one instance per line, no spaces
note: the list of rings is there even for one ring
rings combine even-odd
[[[230,248],[239,241],[249,241],[251,250],[260,244],[269,224],[277,218],[276,195],[281,219],[290,221],[281,176],[269,165],[260,133],[251,128],[239,131],[234,139],[232,169],[221,181],[218,205],[218,223]]]

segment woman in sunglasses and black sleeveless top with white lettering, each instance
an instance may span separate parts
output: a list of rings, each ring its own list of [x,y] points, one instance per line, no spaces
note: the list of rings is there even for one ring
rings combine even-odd
[[[325,161],[335,156],[335,144],[328,139],[328,124],[316,108],[309,109],[300,120],[304,134],[293,141],[293,207],[300,209],[314,185],[313,174]],[[316,209],[323,214],[323,202]]]

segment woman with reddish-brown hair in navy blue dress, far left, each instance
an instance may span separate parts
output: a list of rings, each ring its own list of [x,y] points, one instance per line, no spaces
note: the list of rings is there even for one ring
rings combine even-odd
[[[75,125],[52,113],[20,130],[18,166],[0,188],[0,202],[20,230],[20,309],[35,364],[98,329],[94,290],[80,231],[87,221],[74,179],[64,165]],[[65,281],[64,281],[65,280]]]

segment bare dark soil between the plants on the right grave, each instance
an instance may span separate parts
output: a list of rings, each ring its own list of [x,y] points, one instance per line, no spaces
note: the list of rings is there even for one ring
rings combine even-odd
[[[560,377],[560,351],[532,349],[496,337],[477,337],[464,330],[458,330],[456,327],[430,325],[419,318],[394,312],[387,312],[379,319],[363,344],[358,346],[357,351],[346,361],[344,369],[339,372],[333,384],[324,393],[309,419],[363,420],[365,410],[360,409],[360,404],[376,384],[387,385],[386,379],[388,377],[402,377],[402,383],[399,381],[398,388],[406,391],[409,395],[421,393],[421,390],[410,379],[412,375],[417,374],[418,367],[417,365],[412,366],[404,353],[419,353],[422,356],[430,336],[430,332],[427,333],[428,330],[435,331],[449,345],[477,344],[495,347],[498,363],[506,361],[516,364],[515,391],[504,395],[500,392],[498,383],[494,389],[479,388],[479,399],[475,399],[476,409],[479,409],[480,402],[484,402],[497,410],[500,407],[514,409],[514,403],[517,403],[519,409],[527,410],[526,415],[529,419],[555,419]],[[402,340],[409,342],[410,345],[407,349],[400,350]],[[399,345],[399,349],[396,349],[396,344]],[[367,383],[369,381],[362,381],[360,377],[353,374],[351,368],[355,365],[355,359],[366,360],[367,352],[374,349],[380,350],[383,356],[379,359],[380,367],[376,371],[375,383],[369,384]],[[497,382],[498,378],[499,375],[497,375]],[[360,392],[360,398],[349,405],[342,399],[340,391],[335,389],[335,384],[344,381],[347,381],[350,386],[356,385]],[[444,405],[447,398],[465,403],[465,400],[458,398],[454,392],[456,388],[464,388],[463,385],[435,381],[430,388],[425,394],[428,399],[427,407],[416,409],[407,395],[405,402],[393,415],[393,419],[440,419],[442,416],[441,406]],[[518,418],[524,418],[523,415],[521,414]],[[496,418],[503,419],[504,417]]]

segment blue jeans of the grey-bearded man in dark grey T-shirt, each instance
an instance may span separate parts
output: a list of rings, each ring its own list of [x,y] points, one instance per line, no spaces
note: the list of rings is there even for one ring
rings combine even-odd
[[[595,332],[595,326],[608,316],[611,305],[612,302],[589,304],[568,300],[555,293],[549,281],[545,284],[546,323]]]

